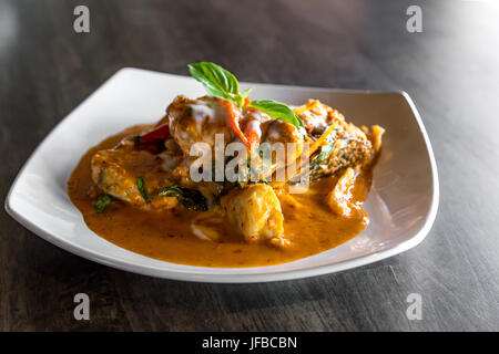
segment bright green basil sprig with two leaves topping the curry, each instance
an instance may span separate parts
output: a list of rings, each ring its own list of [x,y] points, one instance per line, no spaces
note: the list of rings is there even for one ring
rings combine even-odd
[[[204,88],[208,94],[222,100],[231,101],[240,108],[253,90],[247,88],[240,94],[237,79],[231,72],[215,63],[201,62],[189,64],[187,66],[191,75],[204,85]],[[262,111],[274,118],[287,122],[304,133],[303,129],[305,127],[302,119],[293,112],[293,110],[281,102],[259,100],[251,102],[247,107]]]

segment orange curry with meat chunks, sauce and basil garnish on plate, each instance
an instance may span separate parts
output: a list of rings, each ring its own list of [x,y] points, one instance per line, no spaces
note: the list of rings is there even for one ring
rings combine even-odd
[[[309,257],[368,226],[380,126],[313,97],[252,101],[213,63],[189,70],[205,96],[176,96],[157,123],[123,127],[71,174],[68,194],[94,233],[159,260],[241,268]]]

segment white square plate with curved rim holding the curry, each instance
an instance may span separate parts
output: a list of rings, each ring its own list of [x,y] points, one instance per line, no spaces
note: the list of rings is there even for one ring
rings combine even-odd
[[[153,277],[204,282],[261,282],[325,274],[371,263],[418,244],[438,207],[434,154],[422,122],[404,92],[363,92],[242,83],[253,98],[301,104],[308,98],[339,110],[356,125],[386,128],[383,154],[365,208],[370,225],[350,241],[294,262],[258,268],[204,268],[169,263],[122,249],[86,228],[67,194],[80,157],[124,127],[160,119],[176,94],[204,95],[193,79],[122,69],[69,114],[19,173],[7,211],[43,239],[99,263]]]

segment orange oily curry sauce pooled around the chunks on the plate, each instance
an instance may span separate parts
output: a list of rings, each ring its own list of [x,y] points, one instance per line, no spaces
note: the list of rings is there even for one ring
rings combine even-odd
[[[108,241],[130,251],[174,263],[201,267],[263,267],[294,261],[335,248],[354,238],[368,223],[360,208],[352,218],[337,216],[325,202],[337,178],[327,177],[312,183],[305,194],[282,194],[285,237],[291,246],[282,249],[267,242],[246,243],[227,222],[220,241],[202,240],[194,236],[191,221],[200,212],[177,207],[173,211],[144,211],[125,202],[111,204],[98,214],[95,199],[89,196],[94,185],[90,162],[101,149],[112,148],[123,137],[143,132],[134,126],[111,136],[92,147],[80,160],[68,181],[71,201],[81,211],[86,226]],[[364,201],[370,188],[371,173],[364,170],[356,178],[354,199]]]

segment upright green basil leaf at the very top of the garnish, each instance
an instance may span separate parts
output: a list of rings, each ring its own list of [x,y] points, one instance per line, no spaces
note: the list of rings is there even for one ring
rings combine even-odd
[[[240,84],[231,72],[210,62],[194,63],[187,66],[191,75],[204,85],[208,94],[240,105]]]

